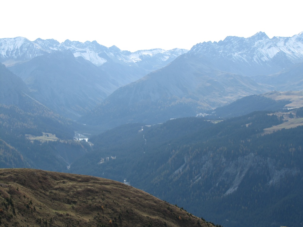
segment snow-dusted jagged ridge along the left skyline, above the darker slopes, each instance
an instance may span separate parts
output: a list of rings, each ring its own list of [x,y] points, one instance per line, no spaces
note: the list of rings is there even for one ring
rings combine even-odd
[[[178,57],[180,54],[186,53],[188,50],[175,48],[172,50],[151,49],[139,50],[135,52],[121,51],[118,47],[105,47],[98,44],[97,41],[79,41],[65,40],[62,43],[54,39],[36,39],[29,41],[27,38],[2,38],[0,39],[0,62],[6,66],[16,64],[18,62],[29,61],[32,58],[41,56],[54,51],[71,51],[74,56],[82,57],[100,66],[108,61],[119,62],[120,64],[140,65],[147,64],[149,61],[157,61],[159,66],[163,67],[170,61]],[[147,68],[150,70],[149,64]]]

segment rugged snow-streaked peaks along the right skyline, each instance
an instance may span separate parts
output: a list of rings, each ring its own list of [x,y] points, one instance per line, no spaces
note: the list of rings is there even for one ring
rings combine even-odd
[[[271,39],[261,31],[248,38],[228,36],[223,41],[196,44],[188,54],[220,71],[268,75],[303,61],[303,32]]]

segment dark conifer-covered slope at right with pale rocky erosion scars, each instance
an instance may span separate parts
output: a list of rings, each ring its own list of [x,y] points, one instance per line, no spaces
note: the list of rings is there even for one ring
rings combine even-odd
[[[303,126],[261,136],[285,117],[127,124],[92,138],[71,171],[125,180],[224,226],[300,226]]]

